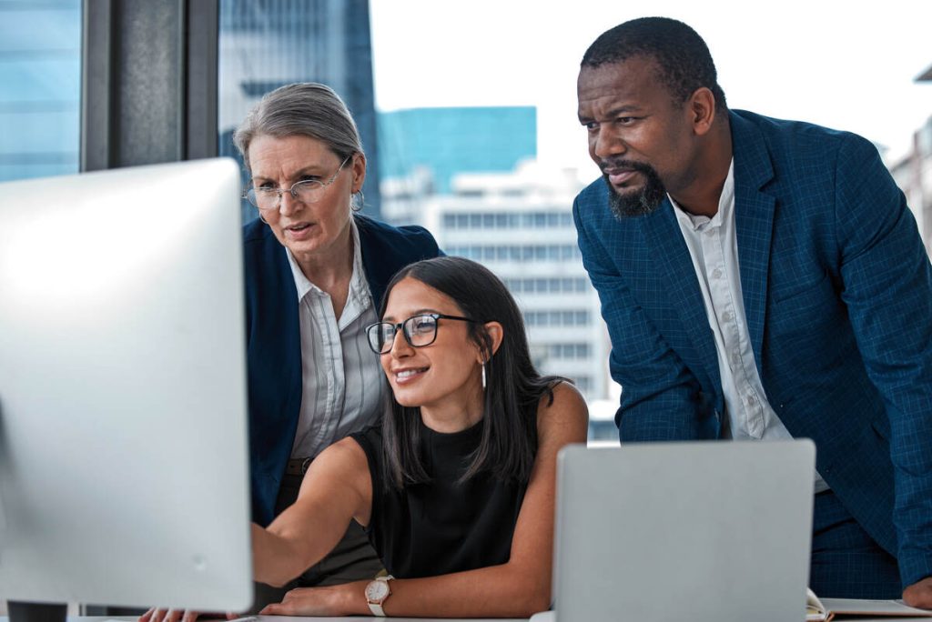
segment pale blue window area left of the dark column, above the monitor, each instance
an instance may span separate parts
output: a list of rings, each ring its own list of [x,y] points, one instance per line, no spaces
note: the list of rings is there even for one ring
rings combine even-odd
[[[0,2],[0,182],[76,173],[81,1]]]

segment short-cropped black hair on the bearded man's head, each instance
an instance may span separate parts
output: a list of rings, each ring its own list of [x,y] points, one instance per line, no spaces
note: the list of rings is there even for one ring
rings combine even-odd
[[[728,109],[719,86],[715,62],[702,40],[682,21],[669,18],[639,18],[625,21],[600,34],[583,54],[583,67],[596,68],[645,56],[660,66],[660,79],[677,103],[686,101],[697,88],[715,95],[716,107]]]

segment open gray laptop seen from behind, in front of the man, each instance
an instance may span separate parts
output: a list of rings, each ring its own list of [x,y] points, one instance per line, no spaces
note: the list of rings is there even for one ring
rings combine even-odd
[[[534,619],[804,619],[815,465],[808,439],[564,448]]]

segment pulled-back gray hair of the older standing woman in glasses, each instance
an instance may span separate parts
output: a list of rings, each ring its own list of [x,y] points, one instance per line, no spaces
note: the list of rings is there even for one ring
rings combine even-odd
[[[246,169],[249,144],[256,136],[309,136],[323,142],[341,160],[363,154],[359,129],[347,104],[333,88],[316,82],[288,84],[266,93],[233,133]]]

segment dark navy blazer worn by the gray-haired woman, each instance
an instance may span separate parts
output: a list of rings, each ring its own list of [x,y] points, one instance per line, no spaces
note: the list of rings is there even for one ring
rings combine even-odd
[[[365,277],[378,308],[398,270],[440,251],[422,227],[393,227],[359,214],[354,218]],[[255,220],[243,227],[243,248],[253,520],[267,525],[274,518],[301,409],[301,331],[295,277],[284,247],[265,223]]]

